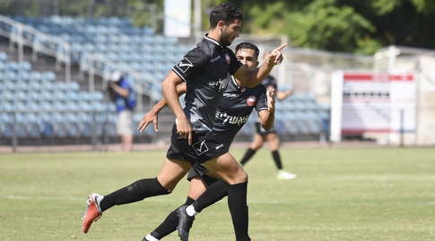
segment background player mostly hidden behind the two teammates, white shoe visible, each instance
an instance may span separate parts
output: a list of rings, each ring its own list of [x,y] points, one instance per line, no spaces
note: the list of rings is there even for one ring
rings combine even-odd
[[[265,53],[265,57],[267,57],[268,55],[269,53]],[[265,80],[261,83],[265,85],[265,89],[268,91],[274,89],[276,99],[278,100],[283,100],[291,96],[291,90],[286,90],[286,91],[278,90],[278,84],[276,83],[276,80],[272,75],[268,75],[265,78]],[[260,120],[258,118],[255,118],[255,125],[256,125],[257,133],[254,135],[254,140],[250,143],[248,150],[245,152],[245,155],[243,156],[243,159],[240,160],[240,165],[244,166],[248,162],[248,160],[254,156],[256,151],[263,146],[265,142],[269,142],[269,148],[270,151],[272,151],[272,157],[274,159],[276,168],[278,169],[278,174],[276,177],[282,180],[290,180],[296,178],[297,176],[295,174],[287,172],[283,169],[283,163],[281,161],[281,156],[279,153],[280,139],[278,137],[278,134],[276,134],[276,130],[274,129],[274,126],[272,126],[272,128],[266,131],[261,126]]]

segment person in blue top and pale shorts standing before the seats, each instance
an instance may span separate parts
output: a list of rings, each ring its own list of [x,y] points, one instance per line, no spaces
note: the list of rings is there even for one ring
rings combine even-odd
[[[116,71],[109,81],[109,93],[117,106],[117,134],[121,137],[121,151],[131,151],[133,145],[133,108],[136,96],[133,85]]]

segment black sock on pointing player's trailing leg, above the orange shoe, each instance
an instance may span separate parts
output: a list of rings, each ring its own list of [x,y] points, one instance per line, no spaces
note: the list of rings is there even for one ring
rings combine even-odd
[[[106,211],[115,205],[138,202],[144,198],[170,194],[157,180],[157,177],[135,181],[111,194],[105,195],[100,202],[101,211]]]

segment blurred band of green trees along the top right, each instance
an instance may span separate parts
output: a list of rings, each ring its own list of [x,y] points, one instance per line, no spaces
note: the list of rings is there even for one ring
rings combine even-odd
[[[388,45],[435,48],[432,0],[234,2],[247,13],[242,31],[285,34],[295,47],[362,54]]]

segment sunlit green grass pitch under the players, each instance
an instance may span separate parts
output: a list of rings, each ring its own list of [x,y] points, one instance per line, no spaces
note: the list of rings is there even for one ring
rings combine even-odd
[[[0,240],[142,240],[186,199],[173,194],[116,206],[87,235],[88,194],[156,176],[166,151],[0,154]],[[233,150],[236,159],[243,150]],[[278,240],[435,240],[433,148],[282,149],[277,180],[262,149],[249,174],[249,234]],[[196,218],[191,241],[234,240],[226,199]],[[176,233],[164,240],[179,240]]]

